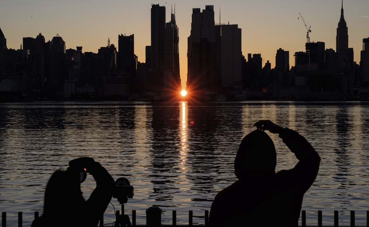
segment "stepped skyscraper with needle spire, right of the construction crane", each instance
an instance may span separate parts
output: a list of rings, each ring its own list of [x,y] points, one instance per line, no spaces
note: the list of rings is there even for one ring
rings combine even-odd
[[[344,18],[344,5],[342,0],[341,18],[338,22],[336,36],[336,51],[339,56],[339,67],[343,68],[343,64],[348,53],[348,29]]]

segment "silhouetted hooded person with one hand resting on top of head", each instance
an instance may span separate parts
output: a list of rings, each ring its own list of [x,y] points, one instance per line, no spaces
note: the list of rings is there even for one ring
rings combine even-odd
[[[210,209],[209,226],[298,226],[302,200],[319,170],[320,157],[296,131],[269,120],[255,123],[234,162],[238,181],[220,191]],[[299,163],[275,173],[276,151],[264,132],[279,134]]]

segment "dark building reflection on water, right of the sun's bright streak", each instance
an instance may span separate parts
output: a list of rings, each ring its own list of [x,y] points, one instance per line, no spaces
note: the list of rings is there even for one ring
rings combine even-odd
[[[187,164],[192,167],[188,176],[193,183],[192,206],[204,206],[202,202],[212,201],[220,189],[235,181],[233,165],[228,163],[233,163],[241,141],[241,108],[228,105],[189,103]]]

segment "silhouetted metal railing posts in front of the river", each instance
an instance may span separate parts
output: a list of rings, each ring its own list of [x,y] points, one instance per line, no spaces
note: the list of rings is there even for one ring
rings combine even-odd
[[[120,214],[120,211],[117,210],[116,211],[116,217],[118,217]],[[124,214],[124,213],[123,213]],[[136,225],[136,210],[132,210],[132,226],[152,226],[151,224],[148,224],[151,222],[153,216],[149,217],[149,215],[147,215],[147,211],[146,211],[146,225]],[[189,224],[188,225],[177,225],[177,212],[176,210],[173,210],[172,212],[173,216],[172,216],[172,224],[165,224],[165,225],[161,225],[161,226],[208,226],[208,220],[209,220],[209,211],[205,210],[205,216],[204,216],[204,224],[193,224],[193,211],[189,210]],[[156,223],[157,220],[159,220],[159,223],[161,222],[161,212],[156,213],[155,214],[156,217],[154,218],[158,218],[156,219]],[[39,212],[36,211],[35,212],[35,219],[39,216]],[[118,221],[118,219],[116,220]],[[6,212],[2,212],[2,227],[6,227],[7,223],[6,223]],[[321,210],[318,210],[318,223],[317,223],[317,227],[323,227],[323,214]],[[100,227],[104,226],[104,220],[103,218],[100,219]],[[157,225],[155,225],[157,226]],[[301,211],[301,226],[302,227],[307,227],[306,226],[306,211],[302,210]],[[333,225],[334,227],[338,227],[338,211],[335,210],[334,211],[334,221],[333,221]],[[366,211],[366,226],[369,227],[369,210]],[[23,227],[23,212],[18,212],[18,227]],[[355,211],[350,211],[350,227],[355,227]]]

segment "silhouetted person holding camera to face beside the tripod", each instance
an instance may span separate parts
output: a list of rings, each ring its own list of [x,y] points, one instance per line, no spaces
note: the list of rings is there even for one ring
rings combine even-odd
[[[80,188],[86,173],[96,181],[87,201]],[[74,159],[67,170],[56,170],[50,177],[45,189],[44,212],[31,227],[97,226],[110,203],[114,186],[113,177],[99,162],[90,157]]]

